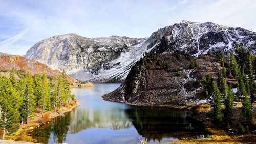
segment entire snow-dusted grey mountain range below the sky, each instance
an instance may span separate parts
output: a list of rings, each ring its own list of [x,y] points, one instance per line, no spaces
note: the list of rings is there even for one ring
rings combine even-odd
[[[36,43],[25,56],[54,69],[65,69],[77,79],[115,82],[123,81],[146,52],[170,54],[184,51],[194,56],[228,54],[236,44],[243,44],[256,53],[255,43],[256,33],[243,28],[182,21],[160,28],[148,38],[54,36]]]

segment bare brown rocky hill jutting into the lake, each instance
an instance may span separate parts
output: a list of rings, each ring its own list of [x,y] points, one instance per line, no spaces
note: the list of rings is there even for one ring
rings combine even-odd
[[[191,68],[193,59],[197,67]],[[132,67],[125,81],[104,100],[133,105],[186,105],[205,99],[200,81],[203,75],[217,77],[221,66],[212,55],[147,54]]]

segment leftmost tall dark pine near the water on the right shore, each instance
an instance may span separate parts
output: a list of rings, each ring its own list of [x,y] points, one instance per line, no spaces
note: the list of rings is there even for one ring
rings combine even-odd
[[[221,93],[215,83],[215,81],[212,82],[212,88],[214,89],[213,96],[213,107],[214,107],[214,115],[215,119],[218,122],[222,121],[222,114],[221,114]]]

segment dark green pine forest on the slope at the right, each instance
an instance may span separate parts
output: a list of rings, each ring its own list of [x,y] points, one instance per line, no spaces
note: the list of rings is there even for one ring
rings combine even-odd
[[[254,68],[252,61],[254,55],[243,46],[237,46],[236,55],[231,52],[228,57],[220,55],[222,70],[219,72],[217,84],[210,75],[203,76],[202,83],[206,89],[208,99],[214,109],[215,121],[224,123],[229,129],[232,124],[234,101],[242,101],[241,118],[239,129],[248,129],[252,123],[252,103],[254,101]],[[233,85],[227,79],[237,80],[237,91],[233,91]],[[236,89],[235,89],[236,90]],[[250,100],[251,99],[251,100]],[[225,109],[222,113],[221,106]],[[244,128],[245,127],[245,128]],[[240,132],[244,133],[244,132]]]

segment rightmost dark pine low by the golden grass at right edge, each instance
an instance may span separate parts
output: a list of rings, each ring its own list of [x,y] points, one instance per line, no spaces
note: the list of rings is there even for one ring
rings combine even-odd
[[[252,111],[251,111],[251,103],[249,97],[245,95],[242,102],[242,117],[246,120],[246,125],[250,126],[252,123]]]

